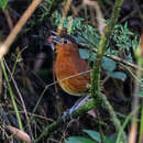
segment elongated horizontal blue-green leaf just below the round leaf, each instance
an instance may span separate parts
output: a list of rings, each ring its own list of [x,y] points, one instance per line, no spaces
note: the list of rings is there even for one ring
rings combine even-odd
[[[117,78],[117,79],[121,79],[121,80],[125,80],[127,79],[127,74],[122,73],[122,72],[112,72],[112,73],[108,73],[108,75],[110,77]]]

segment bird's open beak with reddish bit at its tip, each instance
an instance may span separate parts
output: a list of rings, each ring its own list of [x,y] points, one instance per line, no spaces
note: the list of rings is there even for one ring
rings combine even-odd
[[[55,51],[55,44],[61,44],[59,38],[55,35],[52,35],[46,38],[45,45],[51,46]]]

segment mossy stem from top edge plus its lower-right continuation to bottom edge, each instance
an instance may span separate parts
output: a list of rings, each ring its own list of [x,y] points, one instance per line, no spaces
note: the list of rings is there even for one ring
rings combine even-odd
[[[103,32],[100,43],[99,43],[99,48],[97,51],[94,69],[91,72],[91,88],[90,88],[90,96],[95,100],[96,109],[98,109],[99,105],[101,105],[101,100],[103,101],[103,103],[106,106],[108,106],[108,110],[109,110],[111,120],[116,127],[117,132],[120,131],[121,123],[120,123],[119,119],[117,118],[114,111],[112,110],[110,103],[106,102],[106,101],[108,101],[107,99],[105,99],[106,97],[101,98],[101,96],[99,96],[99,95],[100,95],[101,61],[102,61],[105,53],[108,50],[107,48],[108,41],[116,26],[118,18],[120,15],[120,9],[121,9],[122,3],[123,3],[123,0],[116,1],[109,24],[105,28],[105,32]],[[124,132],[122,134],[122,142],[124,142],[124,143],[127,142],[127,135]]]

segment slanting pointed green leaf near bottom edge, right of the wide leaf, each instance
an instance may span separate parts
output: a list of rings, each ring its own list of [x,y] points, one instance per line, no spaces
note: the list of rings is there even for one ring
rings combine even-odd
[[[101,136],[99,132],[92,131],[92,130],[84,130],[91,139],[94,139],[97,142],[101,142]]]

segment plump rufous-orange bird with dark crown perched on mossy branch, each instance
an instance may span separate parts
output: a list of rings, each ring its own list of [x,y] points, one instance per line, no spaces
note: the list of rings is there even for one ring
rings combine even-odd
[[[56,53],[53,70],[59,87],[72,96],[86,95],[90,84],[90,68],[80,57],[75,38],[68,34],[52,35],[47,42]]]

